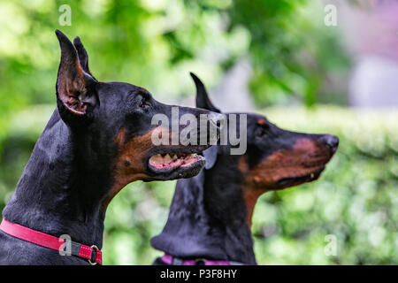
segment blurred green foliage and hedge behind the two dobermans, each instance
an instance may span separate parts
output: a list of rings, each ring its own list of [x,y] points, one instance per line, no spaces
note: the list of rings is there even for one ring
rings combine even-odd
[[[71,27],[59,25],[62,4],[72,8]],[[341,138],[320,180],[257,203],[258,263],[398,264],[398,113],[344,106],[350,60],[338,29],[323,25],[323,7],[305,0],[0,0],[0,209],[55,107],[58,28],[80,35],[97,79],[143,86],[165,103],[193,96],[189,71],[211,89],[249,59],[258,111],[291,130]],[[149,238],[165,224],[174,184],[135,182],[112,201],[105,264],[150,264],[161,255]],[[328,234],[336,236],[337,256],[325,256]]]

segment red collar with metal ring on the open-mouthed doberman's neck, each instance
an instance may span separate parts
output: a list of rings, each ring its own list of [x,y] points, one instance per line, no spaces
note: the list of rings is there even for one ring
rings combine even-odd
[[[47,233],[34,231],[25,226],[8,222],[4,218],[0,224],[0,230],[15,238],[32,242],[38,246],[55,250],[64,250],[65,239],[57,238]],[[79,256],[88,259],[90,264],[103,264],[102,252],[95,245],[88,247],[78,242],[71,241],[71,254],[72,256]]]

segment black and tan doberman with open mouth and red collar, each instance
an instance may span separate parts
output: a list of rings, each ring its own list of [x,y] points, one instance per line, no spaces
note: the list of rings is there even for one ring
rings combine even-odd
[[[180,116],[211,112],[159,103],[132,84],[96,80],[80,38],[73,45],[65,34],[56,34],[57,107],[4,208],[0,264],[100,262],[105,211],[120,189],[134,180],[193,177],[204,166],[196,153],[209,148],[154,145],[151,133],[160,127],[151,124],[155,114],[171,118],[175,107]],[[173,163],[165,160],[168,155]],[[70,241],[57,238],[63,234]]]

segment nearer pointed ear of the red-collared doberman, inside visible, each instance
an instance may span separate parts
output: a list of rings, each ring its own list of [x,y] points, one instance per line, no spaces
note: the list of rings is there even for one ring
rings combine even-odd
[[[72,42],[60,31],[56,31],[61,48],[61,62],[57,75],[57,106],[61,118],[68,122],[91,117],[98,103],[94,80],[80,65]]]

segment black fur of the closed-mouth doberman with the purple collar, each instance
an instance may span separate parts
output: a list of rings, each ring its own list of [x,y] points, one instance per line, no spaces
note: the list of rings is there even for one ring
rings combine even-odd
[[[195,75],[192,77],[197,88],[196,106],[219,111],[210,103],[203,83]],[[266,121],[261,115],[247,115],[248,149],[243,157],[249,171],[272,153],[291,149],[298,139],[309,139],[325,146],[325,162],[337,149],[337,137],[293,133],[268,121],[258,124],[259,119]],[[205,170],[194,178],[178,180],[165,228],[151,239],[155,249],[186,259],[206,258],[256,264],[248,209],[243,197],[246,173],[239,167],[241,156],[230,155],[229,149],[229,145],[206,149]],[[207,164],[208,160],[210,164]],[[160,262],[157,259],[154,264]]]

